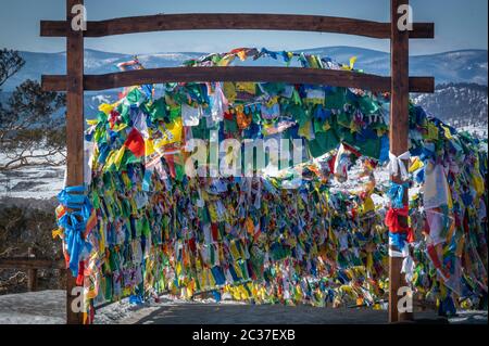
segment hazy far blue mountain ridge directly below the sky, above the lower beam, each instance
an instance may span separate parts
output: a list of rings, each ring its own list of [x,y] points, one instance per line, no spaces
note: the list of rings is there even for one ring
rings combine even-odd
[[[358,56],[356,68],[365,73],[389,75],[389,53],[354,47],[327,47],[303,50],[305,53],[329,56],[340,63],[348,63],[351,56]],[[184,61],[199,57],[206,53],[159,53],[139,55],[141,63],[148,68],[178,66]],[[25,79],[39,80],[41,75],[65,74],[66,53],[33,53],[21,52],[26,61],[24,68],[13,76],[4,86],[3,91],[11,91]],[[85,73],[105,74],[115,72],[116,64],[133,59],[129,54],[109,53],[86,50]],[[251,64],[251,63],[247,63]],[[256,64],[256,63],[254,63]],[[281,61],[262,59],[260,65],[283,65]],[[432,55],[411,56],[410,69],[412,76],[435,76],[436,84],[475,82],[488,84],[488,51],[463,50]]]

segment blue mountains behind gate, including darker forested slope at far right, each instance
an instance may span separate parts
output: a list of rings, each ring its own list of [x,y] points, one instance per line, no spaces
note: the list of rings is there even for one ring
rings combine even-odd
[[[340,63],[348,63],[356,56],[355,68],[377,75],[390,74],[390,56],[388,53],[354,47],[328,47],[303,50],[304,53],[329,56]],[[39,80],[41,75],[65,74],[65,53],[21,52],[26,61],[20,73],[4,86],[0,100],[5,99],[15,86],[26,79]],[[139,61],[148,68],[179,66],[189,59],[200,57],[206,53],[160,53],[139,55]],[[128,61],[130,54],[109,53],[86,50],[85,73],[105,74],[116,72],[116,64]],[[261,59],[259,62],[237,62],[237,65],[284,65],[281,61]],[[413,94],[413,100],[423,105],[432,115],[451,125],[487,124],[487,85],[488,51],[463,50],[432,55],[416,55],[410,59],[412,76],[435,76],[438,85],[434,94]],[[100,103],[113,102],[118,90],[86,92],[85,113],[93,117]]]

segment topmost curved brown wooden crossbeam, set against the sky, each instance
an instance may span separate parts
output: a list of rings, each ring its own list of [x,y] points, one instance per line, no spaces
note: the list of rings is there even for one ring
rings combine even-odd
[[[196,13],[158,14],[87,22],[85,37],[168,31],[168,30],[290,30],[358,35],[378,39],[390,39],[390,23],[354,18],[252,13]],[[71,30],[66,21],[41,21],[40,35],[43,37],[66,37]],[[432,23],[415,23],[411,38],[434,38]]]

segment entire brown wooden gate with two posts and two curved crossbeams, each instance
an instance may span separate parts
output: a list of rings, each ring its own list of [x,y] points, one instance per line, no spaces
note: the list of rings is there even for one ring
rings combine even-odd
[[[84,0],[66,0],[66,21],[42,21],[40,35],[66,38],[66,76],[42,76],[47,91],[67,92],[66,146],[67,187],[84,184],[84,91],[104,90],[135,85],[189,81],[280,81],[352,87],[391,93],[390,151],[399,156],[409,150],[409,94],[434,92],[432,77],[409,76],[410,39],[430,39],[432,23],[413,23],[412,30],[398,25],[405,20],[409,0],[390,0],[390,22],[285,14],[158,14],[90,22],[86,30],[74,30],[75,10]],[[135,33],[200,29],[300,30],[358,35],[388,39],[391,44],[391,76],[375,76],[346,71],[300,67],[174,67],[122,72],[106,75],[84,74],[85,37],[105,37]],[[399,182],[399,177],[391,177]],[[404,193],[408,203],[408,191]],[[401,219],[402,218],[402,219]],[[400,221],[406,223],[405,217]],[[398,290],[403,283],[402,258],[389,257],[389,322],[412,319],[412,313],[398,312]],[[73,312],[75,279],[67,273],[66,321],[82,323],[82,313]]]

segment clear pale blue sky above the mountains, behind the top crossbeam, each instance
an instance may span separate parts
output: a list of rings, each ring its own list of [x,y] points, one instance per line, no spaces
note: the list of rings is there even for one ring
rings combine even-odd
[[[65,0],[2,0],[0,48],[64,51],[61,38],[39,37],[40,20],[63,20]],[[9,3],[7,5],[7,3]],[[155,13],[297,13],[389,20],[389,0],[85,0],[91,21]],[[412,54],[487,49],[487,0],[411,0],[415,22],[435,22],[435,40],[412,40]],[[87,48],[123,52],[222,52],[236,47],[298,50],[355,46],[388,51],[388,41],[346,35],[289,31],[168,31],[87,39]]]

